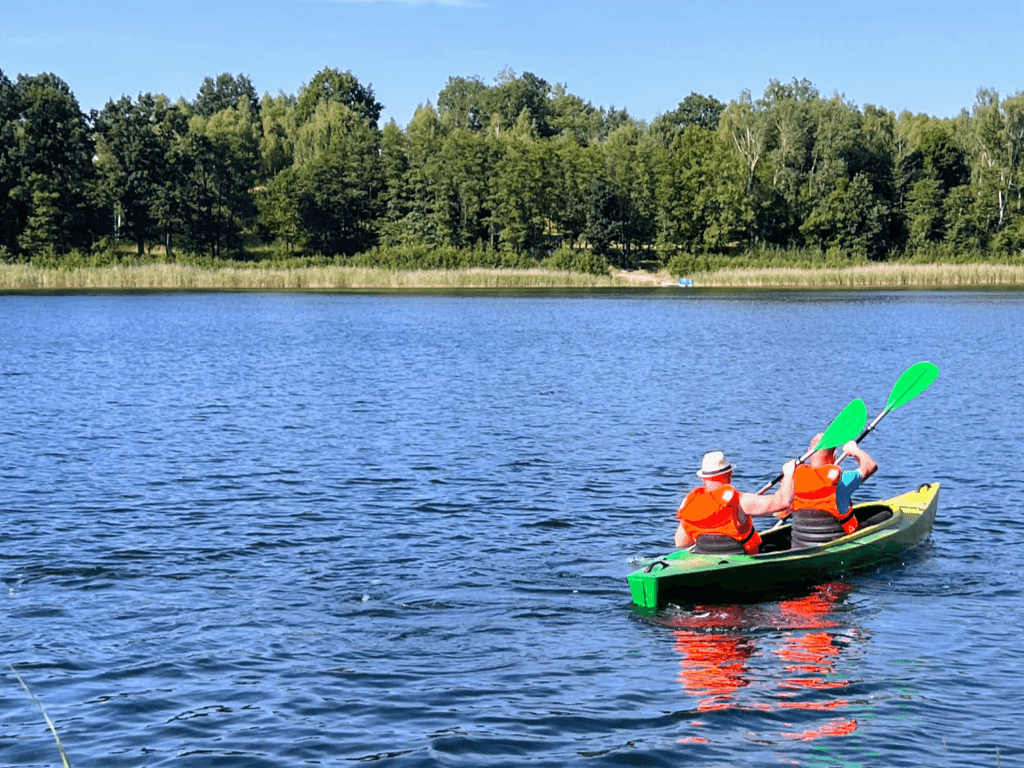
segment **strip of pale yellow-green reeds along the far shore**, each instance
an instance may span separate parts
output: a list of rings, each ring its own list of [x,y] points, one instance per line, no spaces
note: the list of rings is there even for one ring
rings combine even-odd
[[[691,275],[693,288],[900,289],[1024,287],[1024,265],[880,263],[848,267],[758,267]],[[406,291],[676,288],[666,271],[609,275],[546,269],[396,270],[353,266],[208,268],[177,263],[86,267],[0,264],[0,292]],[[692,290],[687,288],[685,290]]]

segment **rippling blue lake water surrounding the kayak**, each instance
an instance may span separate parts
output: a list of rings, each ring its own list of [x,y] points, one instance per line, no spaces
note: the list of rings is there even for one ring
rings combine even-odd
[[[0,764],[1009,766],[1024,293],[0,297]],[[634,614],[703,452],[932,388],[904,561]]]

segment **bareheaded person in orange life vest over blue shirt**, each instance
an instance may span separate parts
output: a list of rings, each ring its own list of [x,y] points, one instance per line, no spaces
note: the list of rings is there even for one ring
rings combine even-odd
[[[821,433],[814,435],[810,447],[820,440]],[[836,449],[823,449],[811,454],[807,464],[794,472],[793,549],[825,544],[857,529],[853,492],[879,465],[856,440],[847,442],[843,453],[857,461],[856,469],[843,471],[836,463]]]

